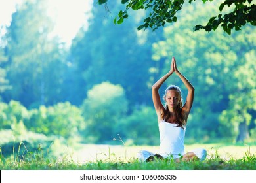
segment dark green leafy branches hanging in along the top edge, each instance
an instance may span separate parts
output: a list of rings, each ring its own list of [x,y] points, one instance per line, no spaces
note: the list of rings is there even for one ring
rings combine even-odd
[[[189,0],[189,3],[196,0]],[[203,3],[212,0],[202,0]],[[108,0],[98,0],[98,3],[104,4]],[[223,3],[221,3],[223,2]],[[138,29],[152,28],[153,31],[158,27],[164,26],[166,23],[177,21],[177,12],[179,12],[183,5],[184,0],[121,0],[121,3],[127,4],[125,10],[121,10],[118,14],[119,19],[114,20],[117,24],[121,24],[125,18],[128,18],[128,10],[148,10],[148,17],[144,19],[144,24],[140,25]],[[242,26],[250,23],[256,25],[256,5],[252,0],[223,0],[218,1],[219,14],[209,19],[207,25],[196,25],[194,31],[205,29],[205,31],[216,30],[219,25],[223,30],[231,34],[231,29],[236,31],[240,30]],[[206,7],[206,5],[205,5]],[[231,12],[224,12],[224,7],[228,7]],[[224,14],[223,14],[224,12]]]

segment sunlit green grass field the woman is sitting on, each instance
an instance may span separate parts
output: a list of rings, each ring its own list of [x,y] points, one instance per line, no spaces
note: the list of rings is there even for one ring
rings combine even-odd
[[[21,143],[20,146],[23,144]],[[108,146],[79,144],[75,150],[66,148],[58,158],[49,152],[19,152],[5,158],[0,148],[0,169],[5,170],[255,170],[256,146],[233,144],[187,145],[186,151],[203,147],[208,156],[205,161],[175,163],[172,159],[140,163],[139,150],[156,150],[156,146]],[[67,150],[68,149],[68,150]]]

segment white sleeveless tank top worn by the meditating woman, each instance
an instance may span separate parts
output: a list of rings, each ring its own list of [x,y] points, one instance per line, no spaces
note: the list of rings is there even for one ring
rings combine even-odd
[[[170,124],[161,121],[158,124],[160,131],[160,154],[163,157],[170,156],[171,154],[184,154],[184,137],[186,126],[177,127],[177,124]]]

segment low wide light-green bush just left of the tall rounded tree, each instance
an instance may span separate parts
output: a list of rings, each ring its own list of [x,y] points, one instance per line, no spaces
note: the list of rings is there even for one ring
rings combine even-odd
[[[38,109],[30,110],[30,119],[24,124],[30,131],[51,136],[72,139],[79,136],[79,131],[85,128],[85,122],[81,116],[81,110],[69,102],[57,103]]]

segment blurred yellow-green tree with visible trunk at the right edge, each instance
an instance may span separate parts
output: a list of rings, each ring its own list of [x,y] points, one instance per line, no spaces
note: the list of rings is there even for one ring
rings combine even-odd
[[[256,66],[253,60],[256,58],[255,50],[245,54],[245,63],[236,69],[236,92],[230,93],[228,108],[221,112],[221,129],[227,131],[228,126],[234,128],[236,142],[244,142],[249,137],[249,125],[254,123],[253,113],[256,113]]]

